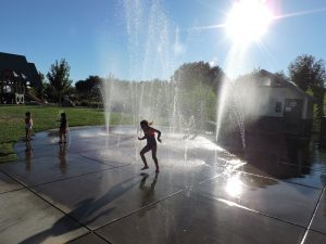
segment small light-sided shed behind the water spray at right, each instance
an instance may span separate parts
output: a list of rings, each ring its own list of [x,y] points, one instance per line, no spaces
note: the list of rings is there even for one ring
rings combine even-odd
[[[247,129],[310,137],[314,99],[293,82],[261,69],[236,84]]]

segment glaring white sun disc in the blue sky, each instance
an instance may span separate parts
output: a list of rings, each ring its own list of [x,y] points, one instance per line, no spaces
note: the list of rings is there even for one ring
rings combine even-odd
[[[225,23],[229,38],[236,43],[260,41],[274,15],[264,0],[235,2]]]

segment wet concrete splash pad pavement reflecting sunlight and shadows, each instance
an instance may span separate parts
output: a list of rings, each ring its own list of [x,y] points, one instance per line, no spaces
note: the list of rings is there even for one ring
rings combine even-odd
[[[20,159],[0,165],[0,243],[326,243],[326,153],[313,144],[236,155],[163,129],[155,174],[150,154],[140,171],[137,136],[84,127],[66,144],[55,131],[17,142]]]

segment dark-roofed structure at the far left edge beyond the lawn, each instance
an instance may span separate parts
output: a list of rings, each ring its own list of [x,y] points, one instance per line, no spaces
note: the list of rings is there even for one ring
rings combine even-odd
[[[0,52],[0,103],[24,103],[26,88],[40,85],[34,63],[24,55]]]

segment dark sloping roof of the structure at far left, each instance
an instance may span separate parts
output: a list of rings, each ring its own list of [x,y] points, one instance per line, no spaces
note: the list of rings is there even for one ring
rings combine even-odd
[[[0,78],[4,70],[23,74],[32,87],[39,87],[41,80],[34,63],[28,63],[24,55],[0,52]]]

